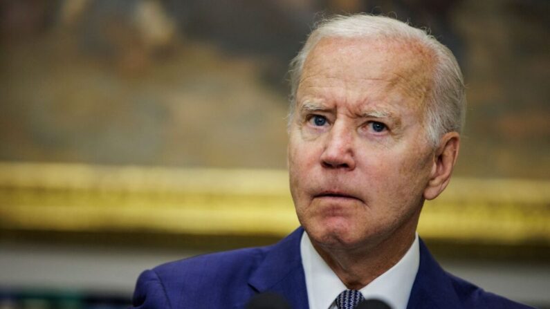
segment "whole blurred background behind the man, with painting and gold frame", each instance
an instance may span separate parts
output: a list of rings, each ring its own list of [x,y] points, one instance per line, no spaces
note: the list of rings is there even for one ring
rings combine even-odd
[[[347,12],[457,55],[458,180],[421,232],[448,270],[550,308],[547,0],[0,1],[0,307],[123,308],[141,270],[297,226],[286,68]]]

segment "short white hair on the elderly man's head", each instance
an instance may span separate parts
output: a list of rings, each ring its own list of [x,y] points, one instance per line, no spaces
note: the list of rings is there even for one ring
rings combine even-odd
[[[336,16],[321,21],[309,35],[304,47],[292,60],[291,106],[288,121],[292,121],[296,105],[296,93],[307,56],[318,42],[325,37],[385,37],[387,39],[416,41],[434,54],[432,87],[426,96],[425,124],[427,138],[436,147],[439,138],[447,132],[460,133],[464,125],[466,94],[464,78],[452,52],[439,43],[426,30],[413,28],[408,24],[383,16],[350,15]]]

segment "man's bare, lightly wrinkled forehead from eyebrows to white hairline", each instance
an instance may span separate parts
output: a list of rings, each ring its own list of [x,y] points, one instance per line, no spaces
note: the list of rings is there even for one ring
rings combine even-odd
[[[306,58],[297,98],[324,92],[325,99],[394,99],[418,108],[430,91],[433,58],[412,40],[323,38]]]

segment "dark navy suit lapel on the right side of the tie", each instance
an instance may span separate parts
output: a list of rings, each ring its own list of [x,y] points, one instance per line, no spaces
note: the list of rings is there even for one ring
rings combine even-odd
[[[460,299],[448,274],[420,241],[419,272],[412,285],[407,309],[461,308]]]

